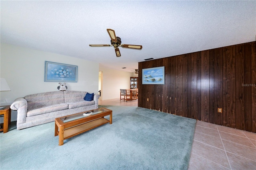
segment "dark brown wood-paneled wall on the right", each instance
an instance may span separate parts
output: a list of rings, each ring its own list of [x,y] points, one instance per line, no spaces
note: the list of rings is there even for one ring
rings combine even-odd
[[[165,84],[142,84],[158,66]],[[138,80],[139,107],[256,133],[256,41],[140,62]]]

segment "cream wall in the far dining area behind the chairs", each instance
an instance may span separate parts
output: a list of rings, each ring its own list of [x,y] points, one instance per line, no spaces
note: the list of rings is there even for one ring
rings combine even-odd
[[[134,77],[134,73],[104,67],[99,70],[102,71],[102,100],[120,98],[120,89],[130,89],[130,77]]]

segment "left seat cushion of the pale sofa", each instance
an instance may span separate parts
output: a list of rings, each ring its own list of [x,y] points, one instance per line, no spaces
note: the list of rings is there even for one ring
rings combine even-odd
[[[56,104],[56,105],[50,105],[50,106],[43,106],[39,107],[37,109],[31,109],[27,112],[27,117],[34,116],[34,115],[40,115],[44,113],[50,113],[54,111],[60,111],[68,109],[68,104],[62,103],[62,104]]]

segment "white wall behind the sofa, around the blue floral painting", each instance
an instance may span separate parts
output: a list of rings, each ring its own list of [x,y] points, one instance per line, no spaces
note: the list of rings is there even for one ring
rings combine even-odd
[[[1,106],[28,94],[58,90],[58,82],[44,82],[45,61],[77,65],[78,82],[67,82],[68,90],[98,94],[99,63],[1,43],[0,76],[11,89],[0,92]],[[16,120],[15,112],[12,121]]]

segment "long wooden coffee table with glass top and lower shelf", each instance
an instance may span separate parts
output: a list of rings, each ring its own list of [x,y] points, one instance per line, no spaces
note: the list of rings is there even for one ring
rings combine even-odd
[[[85,112],[92,112],[92,115],[84,116],[83,113]],[[110,115],[109,120],[104,118],[107,115]],[[108,122],[112,124],[112,110],[104,107],[58,117],[55,119],[54,136],[59,135],[59,145],[63,145],[65,139],[74,137]]]

